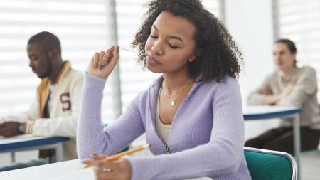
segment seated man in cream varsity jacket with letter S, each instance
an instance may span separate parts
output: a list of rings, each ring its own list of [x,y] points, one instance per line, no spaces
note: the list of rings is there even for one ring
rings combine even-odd
[[[21,115],[0,118],[0,136],[19,134],[70,137],[63,142],[63,159],[77,159],[75,135],[83,75],[61,58],[60,41],[53,33],[32,36],[27,46],[29,66],[41,78],[36,100]],[[40,152],[46,157],[48,152]]]

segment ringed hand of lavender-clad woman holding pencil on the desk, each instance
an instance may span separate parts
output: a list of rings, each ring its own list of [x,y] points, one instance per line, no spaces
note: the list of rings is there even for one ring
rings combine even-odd
[[[95,171],[96,180],[105,179],[131,179],[132,167],[128,159],[117,159],[112,162],[105,162],[106,156],[92,154],[91,159],[86,159],[85,164],[90,164]]]

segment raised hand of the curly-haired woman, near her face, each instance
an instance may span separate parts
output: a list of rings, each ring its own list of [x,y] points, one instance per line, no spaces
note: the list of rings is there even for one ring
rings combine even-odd
[[[87,67],[89,75],[98,78],[107,78],[119,60],[119,46],[112,46],[107,51],[100,51],[92,56],[90,63]]]

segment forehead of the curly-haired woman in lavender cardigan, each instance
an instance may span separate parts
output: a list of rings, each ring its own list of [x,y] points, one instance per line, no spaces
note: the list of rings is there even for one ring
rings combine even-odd
[[[193,38],[196,27],[191,21],[181,16],[174,16],[168,11],[162,11],[154,21],[154,25],[161,33],[169,36],[182,36],[183,38]]]

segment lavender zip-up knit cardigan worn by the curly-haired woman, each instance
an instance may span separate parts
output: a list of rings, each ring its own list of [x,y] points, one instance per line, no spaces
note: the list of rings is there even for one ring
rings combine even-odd
[[[115,122],[103,127],[102,92],[106,80],[85,75],[77,146],[80,159],[92,152],[114,154],[146,132],[152,157],[125,157],[132,179],[187,179],[209,176],[251,179],[243,155],[244,125],[237,80],[223,83],[200,79],[181,103],[166,144],[155,127],[156,100],[162,78],[137,95]],[[107,107],[105,107],[107,108]]]

